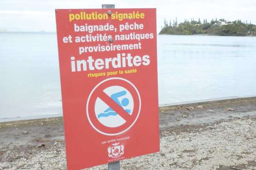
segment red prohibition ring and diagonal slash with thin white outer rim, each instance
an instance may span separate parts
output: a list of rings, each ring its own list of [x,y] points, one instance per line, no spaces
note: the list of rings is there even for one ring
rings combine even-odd
[[[113,99],[111,99],[110,96],[108,96],[104,92],[107,87],[111,86],[121,86],[126,88],[130,92],[134,102],[134,108],[131,115],[128,114],[121,106],[119,106]],[[95,103],[98,97],[103,102],[105,102],[106,105],[111,107],[118,115],[120,115],[126,122],[118,127],[107,127],[101,124],[95,114]],[[92,92],[90,93],[87,100],[86,111],[87,118],[93,129],[101,134],[113,136],[126,132],[135,124],[136,120],[140,115],[140,108],[140,93],[138,92],[137,88],[134,86],[133,83],[126,80],[125,78],[108,78],[98,83],[97,86],[92,89]]]

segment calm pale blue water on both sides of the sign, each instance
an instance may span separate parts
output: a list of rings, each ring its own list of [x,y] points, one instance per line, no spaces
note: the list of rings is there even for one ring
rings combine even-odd
[[[55,34],[0,33],[0,119],[62,113]],[[159,104],[256,94],[256,37],[158,36]]]

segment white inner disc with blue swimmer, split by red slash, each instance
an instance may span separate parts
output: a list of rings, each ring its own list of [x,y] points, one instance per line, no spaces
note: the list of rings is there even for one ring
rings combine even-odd
[[[132,114],[134,108],[133,97],[130,92],[121,86],[111,86],[103,90],[111,97],[120,107],[122,107],[128,114]],[[99,122],[107,127],[118,127],[126,123],[115,110],[108,106],[104,101],[97,97],[95,102],[95,114]]]

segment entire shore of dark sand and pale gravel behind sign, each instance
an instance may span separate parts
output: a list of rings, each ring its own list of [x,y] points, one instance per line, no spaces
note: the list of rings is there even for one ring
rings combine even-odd
[[[256,170],[256,97],[159,115],[160,152],[121,161],[121,170]],[[62,117],[0,123],[0,170],[65,170],[65,156]]]

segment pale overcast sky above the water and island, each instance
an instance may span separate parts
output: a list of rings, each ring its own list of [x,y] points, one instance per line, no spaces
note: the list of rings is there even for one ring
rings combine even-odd
[[[256,24],[256,0],[1,0],[0,29],[7,31],[56,32],[54,9],[97,9],[101,4],[116,8],[156,8],[157,31],[164,18],[241,19]]]

